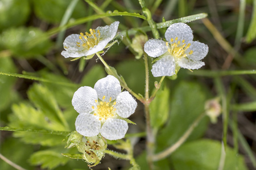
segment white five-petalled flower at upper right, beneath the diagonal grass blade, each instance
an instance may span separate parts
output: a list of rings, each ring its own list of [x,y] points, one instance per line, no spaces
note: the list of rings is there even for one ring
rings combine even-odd
[[[161,56],[152,66],[154,76],[171,76],[175,69],[199,69],[204,66],[200,61],[208,53],[208,46],[193,40],[192,29],[184,23],[172,24],[166,31],[166,41],[151,39],[144,45],[150,57]],[[163,55],[163,56],[162,56]]]

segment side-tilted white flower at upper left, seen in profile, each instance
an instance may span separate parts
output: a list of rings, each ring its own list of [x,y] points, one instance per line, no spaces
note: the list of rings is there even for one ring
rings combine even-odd
[[[115,37],[118,25],[119,22],[114,22],[105,27],[90,29],[90,33],[85,32],[85,35],[84,33],[69,35],[63,42],[65,50],[61,55],[65,58],[76,58],[100,52]]]

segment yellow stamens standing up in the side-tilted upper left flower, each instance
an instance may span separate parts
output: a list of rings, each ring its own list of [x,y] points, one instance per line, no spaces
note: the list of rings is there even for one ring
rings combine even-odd
[[[76,42],[76,45],[79,47],[83,46],[86,50],[89,50],[90,48],[93,48],[93,46],[98,44],[98,42],[100,41],[100,36],[100,30],[98,30],[96,33],[95,29],[91,28],[90,33],[85,32],[85,35],[82,32],[80,33],[79,39],[82,41],[82,44],[81,42]]]

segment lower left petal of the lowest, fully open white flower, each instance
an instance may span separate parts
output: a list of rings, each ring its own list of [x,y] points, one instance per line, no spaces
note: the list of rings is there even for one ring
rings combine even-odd
[[[76,131],[86,137],[93,137],[100,133],[101,121],[89,113],[79,114],[75,122]]]

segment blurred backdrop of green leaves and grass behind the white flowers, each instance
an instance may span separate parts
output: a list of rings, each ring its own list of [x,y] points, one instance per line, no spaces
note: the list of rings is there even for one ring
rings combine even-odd
[[[193,30],[193,40],[209,46],[209,53],[203,59],[205,66],[193,73],[180,70],[176,80],[166,78],[162,91],[156,96],[159,103],[151,106],[151,118],[155,120],[151,123],[158,133],[156,152],[181,137],[204,111],[206,100],[220,97],[224,113],[217,124],[210,124],[205,117],[183,146],[155,163],[156,169],[217,169],[222,137],[229,146],[223,169],[256,168],[256,76],[253,73],[256,1],[147,0],[146,7],[156,23],[202,12],[208,14],[207,19],[187,23]],[[117,69],[134,92],[144,94],[143,59],[131,44],[134,35],[127,31],[134,28],[136,35],[147,33],[150,39],[152,33],[141,29],[148,23],[133,16],[86,20],[89,16],[114,10],[143,15],[135,0],[0,0],[0,72],[39,78],[31,80],[0,74],[1,127],[75,130],[78,113],[71,104],[73,93],[80,86],[93,87],[106,73],[95,56],[86,61],[65,59],[60,54],[63,41],[72,33],[86,32],[115,20],[121,22],[119,31],[123,39],[104,54],[104,59]],[[72,27],[61,27],[66,24]],[[159,29],[160,37],[164,37],[166,29]],[[250,74],[236,74],[236,70],[249,70]],[[151,91],[155,80],[159,78],[150,75]],[[143,105],[139,101],[131,120],[137,125],[129,125],[128,133],[145,130]],[[64,148],[64,135],[0,131],[0,137],[0,154],[25,169],[88,168],[82,160],[61,155],[76,153],[75,149]],[[137,162],[142,169],[147,169],[145,137],[131,138],[131,141]],[[2,159],[0,167],[14,169]],[[106,155],[93,169],[108,167],[125,169],[129,162]]]

